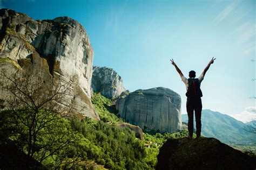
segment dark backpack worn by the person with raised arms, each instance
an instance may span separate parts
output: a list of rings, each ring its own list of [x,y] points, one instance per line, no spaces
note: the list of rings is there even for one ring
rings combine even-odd
[[[187,97],[203,97],[198,79],[188,79]]]

